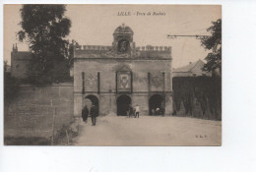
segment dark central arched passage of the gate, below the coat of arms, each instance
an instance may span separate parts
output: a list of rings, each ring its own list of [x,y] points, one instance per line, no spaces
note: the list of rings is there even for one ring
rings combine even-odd
[[[120,95],[116,100],[117,116],[126,116],[132,100],[128,95]]]

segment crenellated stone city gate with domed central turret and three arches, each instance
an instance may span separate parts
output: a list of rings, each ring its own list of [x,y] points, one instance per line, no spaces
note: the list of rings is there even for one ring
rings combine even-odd
[[[99,115],[126,115],[138,104],[141,114],[163,106],[172,113],[171,47],[137,47],[133,30],[114,30],[112,46],[84,45],[74,50],[74,114],[81,116],[88,100]]]

